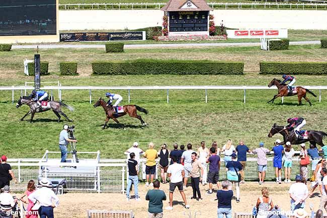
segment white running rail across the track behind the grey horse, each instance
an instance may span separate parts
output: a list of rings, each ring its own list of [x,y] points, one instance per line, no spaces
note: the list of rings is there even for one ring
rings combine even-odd
[[[319,90],[319,102],[321,102],[321,90],[327,90],[327,86],[302,86],[303,88],[310,90]],[[14,104],[15,96],[14,91],[20,90],[21,95],[25,90],[33,90],[34,88],[29,86],[12,86],[12,87],[0,87],[0,91],[12,91],[12,103]],[[169,91],[170,90],[204,90],[205,91],[205,103],[208,102],[208,90],[243,90],[243,103],[246,103],[246,91],[247,90],[276,90],[277,87],[268,86],[44,86],[43,90],[58,90],[59,100],[61,101],[62,90],[89,90],[90,104],[92,103],[92,90],[127,90],[128,91],[128,103],[130,103],[131,90],[166,90],[167,91],[167,103],[169,103]],[[283,102],[283,98],[282,98]]]

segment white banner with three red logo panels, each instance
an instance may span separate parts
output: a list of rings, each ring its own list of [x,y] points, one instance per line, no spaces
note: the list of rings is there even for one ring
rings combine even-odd
[[[287,29],[249,29],[249,30],[226,30],[227,37],[238,38],[287,38]]]

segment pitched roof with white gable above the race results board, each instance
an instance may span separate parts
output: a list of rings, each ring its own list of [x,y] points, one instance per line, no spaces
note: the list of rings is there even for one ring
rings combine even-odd
[[[169,0],[166,6],[160,10],[166,12],[212,11],[205,0]]]

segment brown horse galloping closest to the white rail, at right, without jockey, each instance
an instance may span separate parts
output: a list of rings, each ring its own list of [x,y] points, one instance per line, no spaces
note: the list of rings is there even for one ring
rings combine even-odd
[[[297,95],[297,99],[299,101],[299,105],[302,104],[302,98],[304,98],[307,102],[309,102],[310,106],[312,106],[310,100],[306,97],[306,93],[310,93],[311,95],[313,95],[314,97],[317,97],[313,92],[311,92],[308,89],[305,89],[303,87],[297,86],[296,87],[296,92],[291,92],[289,93],[288,89],[287,89],[287,85],[285,84],[281,84],[280,80],[277,80],[276,78],[274,78],[268,85],[268,87],[272,87],[272,86],[277,86],[278,88],[278,94],[274,95],[274,98],[272,100],[270,100],[268,103],[274,103],[274,100],[278,97],[283,97],[283,96],[294,96]]]

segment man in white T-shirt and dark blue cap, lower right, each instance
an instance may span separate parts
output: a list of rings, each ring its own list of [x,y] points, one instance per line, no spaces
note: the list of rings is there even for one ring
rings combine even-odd
[[[295,209],[304,208],[305,199],[308,197],[308,188],[304,183],[302,183],[302,176],[296,175],[296,183],[292,184],[289,189],[289,194],[291,198],[291,211]]]

